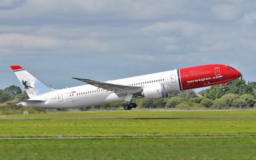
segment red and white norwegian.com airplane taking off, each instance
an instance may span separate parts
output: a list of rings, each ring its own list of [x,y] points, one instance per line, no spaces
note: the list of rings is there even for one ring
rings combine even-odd
[[[56,90],[21,66],[11,66],[28,100],[13,100],[17,106],[33,108],[82,108],[111,102],[127,101],[124,110],[136,108],[132,100],[168,98],[168,93],[222,84],[240,78],[241,73],[228,65],[210,64],[175,69],[106,82],[74,78],[87,85]]]

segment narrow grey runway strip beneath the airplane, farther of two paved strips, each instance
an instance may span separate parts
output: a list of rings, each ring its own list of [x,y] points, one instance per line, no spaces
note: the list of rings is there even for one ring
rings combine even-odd
[[[0,118],[0,120],[255,120],[256,118]]]

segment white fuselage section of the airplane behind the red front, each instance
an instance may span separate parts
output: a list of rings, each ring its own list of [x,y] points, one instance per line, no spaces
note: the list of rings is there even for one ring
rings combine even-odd
[[[173,79],[171,80],[171,75],[175,75],[175,79],[172,76]],[[166,92],[180,91],[177,70],[123,78],[118,80],[110,80],[107,82],[120,85],[142,86],[142,88],[158,83],[164,84]],[[26,104],[25,102],[22,102],[22,106],[36,108],[81,108],[110,102],[120,102],[124,101],[125,98],[126,96],[118,97],[111,91],[106,91],[102,88],[88,84],[65,88],[62,90],[54,90],[52,92],[30,98],[30,100],[46,100],[45,102],[38,102],[33,104]],[[141,96],[132,99],[137,98],[141,98]]]

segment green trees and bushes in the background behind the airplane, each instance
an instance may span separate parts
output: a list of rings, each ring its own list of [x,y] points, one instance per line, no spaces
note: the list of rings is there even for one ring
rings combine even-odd
[[[187,107],[253,107],[256,106],[256,82],[246,82],[243,77],[228,83],[225,86],[226,91],[222,91],[222,85],[211,86],[206,90],[200,91],[198,94],[194,90],[185,90],[180,92],[172,92],[169,98],[158,100],[146,100],[140,98],[134,100],[139,108],[187,108]],[[24,107],[16,106],[11,100],[26,100],[28,96],[26,92],[22,92],[18,86],[10,86],[0,90],[0,114],[20,114]],[[92,108],[118,108],[122,107],[126,102],[108,103]],[[31,112],[45,112],[44,109],[26,108]]]

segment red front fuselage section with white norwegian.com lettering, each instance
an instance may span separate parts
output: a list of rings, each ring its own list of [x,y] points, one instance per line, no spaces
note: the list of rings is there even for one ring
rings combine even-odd
[[[230,82],[238,78],[236,70],[228,70],[230,66],[210,64],[180,69],[180,80],[183,90],[201,88]]]

